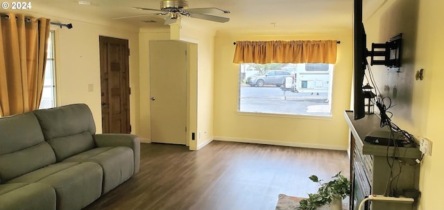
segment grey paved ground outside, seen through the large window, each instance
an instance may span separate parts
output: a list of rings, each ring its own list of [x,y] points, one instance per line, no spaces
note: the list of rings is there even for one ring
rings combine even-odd
[[[280,87],[241,86],[241,112],[330,116],[326,93],[293,93]]]

